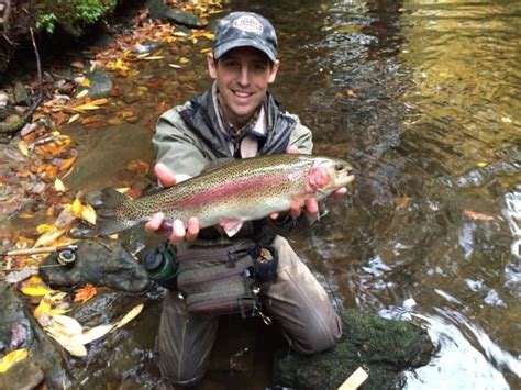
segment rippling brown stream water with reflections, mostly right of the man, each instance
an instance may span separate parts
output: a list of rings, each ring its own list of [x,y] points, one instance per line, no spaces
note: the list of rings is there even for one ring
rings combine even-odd
[[[428,330],[436,354],[408,372],[407,388],[519,389],[521,2],[224,8],[273,21],[274,93],[313,130],[315,153],[356,167],[351,194],[328,202],[320,229],[291,239],[332,298]],[[144,65],[141,82],[153,93],[138,103],[141,124],[153,125],[162,102],[209,86],[203,55],[188,56],[184,69]],[[219,388],[236,386],[230,377]]]

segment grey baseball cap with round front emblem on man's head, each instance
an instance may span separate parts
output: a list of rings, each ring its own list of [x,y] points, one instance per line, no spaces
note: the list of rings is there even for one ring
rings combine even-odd
[[[235,47],[255,47],[275,63],[277,34],[266,18],[253,12],[232,12],[221,19],[213,40],[213,57],[219,59]]]

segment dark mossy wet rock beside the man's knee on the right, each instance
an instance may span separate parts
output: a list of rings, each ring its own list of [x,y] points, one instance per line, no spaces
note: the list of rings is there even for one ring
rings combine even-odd
[[[433,350],[426,332],[403,321],[345,310],[342,338],[330,350],[303,356],[280,350],[274,381],[298,389],[337,389],[358,367],[369,371],[364,389],[397,389],[403,370],[425,365]]]

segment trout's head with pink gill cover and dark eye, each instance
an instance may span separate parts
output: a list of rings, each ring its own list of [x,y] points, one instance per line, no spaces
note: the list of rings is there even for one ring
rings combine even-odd
[[[307,187],[312,192],[328,196],[354,180],[353,166],[340,158],[320,157],[307,174]]]

